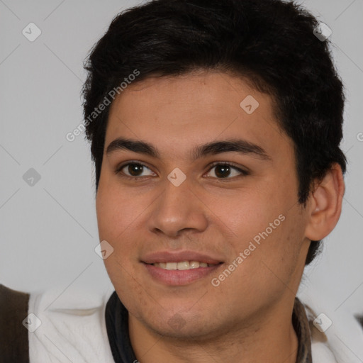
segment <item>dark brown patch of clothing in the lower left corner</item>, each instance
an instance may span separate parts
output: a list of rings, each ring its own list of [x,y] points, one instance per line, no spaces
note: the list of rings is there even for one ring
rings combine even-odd
[[[28,330],[23,325],[29,296],[0,284],[0,362],[29,362]]]

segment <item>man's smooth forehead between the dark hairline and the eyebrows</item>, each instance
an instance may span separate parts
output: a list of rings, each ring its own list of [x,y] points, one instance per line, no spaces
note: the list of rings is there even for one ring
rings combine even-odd
[[[243,138],[264,150],[291,140],[274,116],[271,96],[222,72],[149,77],[128,85],[113,101],[105,146],[115,138],[147,140],[186,157],[191,145]]]

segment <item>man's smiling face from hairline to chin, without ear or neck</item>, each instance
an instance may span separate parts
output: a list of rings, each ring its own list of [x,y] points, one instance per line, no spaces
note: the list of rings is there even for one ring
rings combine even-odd
[[[121,143],[107,152],[118,138],[159,155]],[[194,152],[238,140],[239,151]],[[237,77],[149,78],[111,107],[99,235],[114,249],[105,265],[118,296],[150,330],[212,337],[289,306],[310,242],[297,196],[294,145],[272,99]]]

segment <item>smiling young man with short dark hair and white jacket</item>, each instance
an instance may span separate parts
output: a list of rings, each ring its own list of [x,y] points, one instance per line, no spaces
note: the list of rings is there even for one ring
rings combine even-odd
[[[296,298],[345,191],[324,29],[277,0],[156,0],[113,20],[84,116],[116,291],[51,311],[30,296],[30,362],[358,362]]]

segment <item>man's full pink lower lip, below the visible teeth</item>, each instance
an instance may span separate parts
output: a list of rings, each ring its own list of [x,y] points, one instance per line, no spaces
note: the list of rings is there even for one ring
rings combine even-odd
[[[222,264],[216,264],[211,267],[198,267],[197,269],[162,269],[153,264],[145,264],[149,274],[157,281],[163,284],[180,286],[191,284],[194,281],[206,278],[209,274],[216,272]]]

